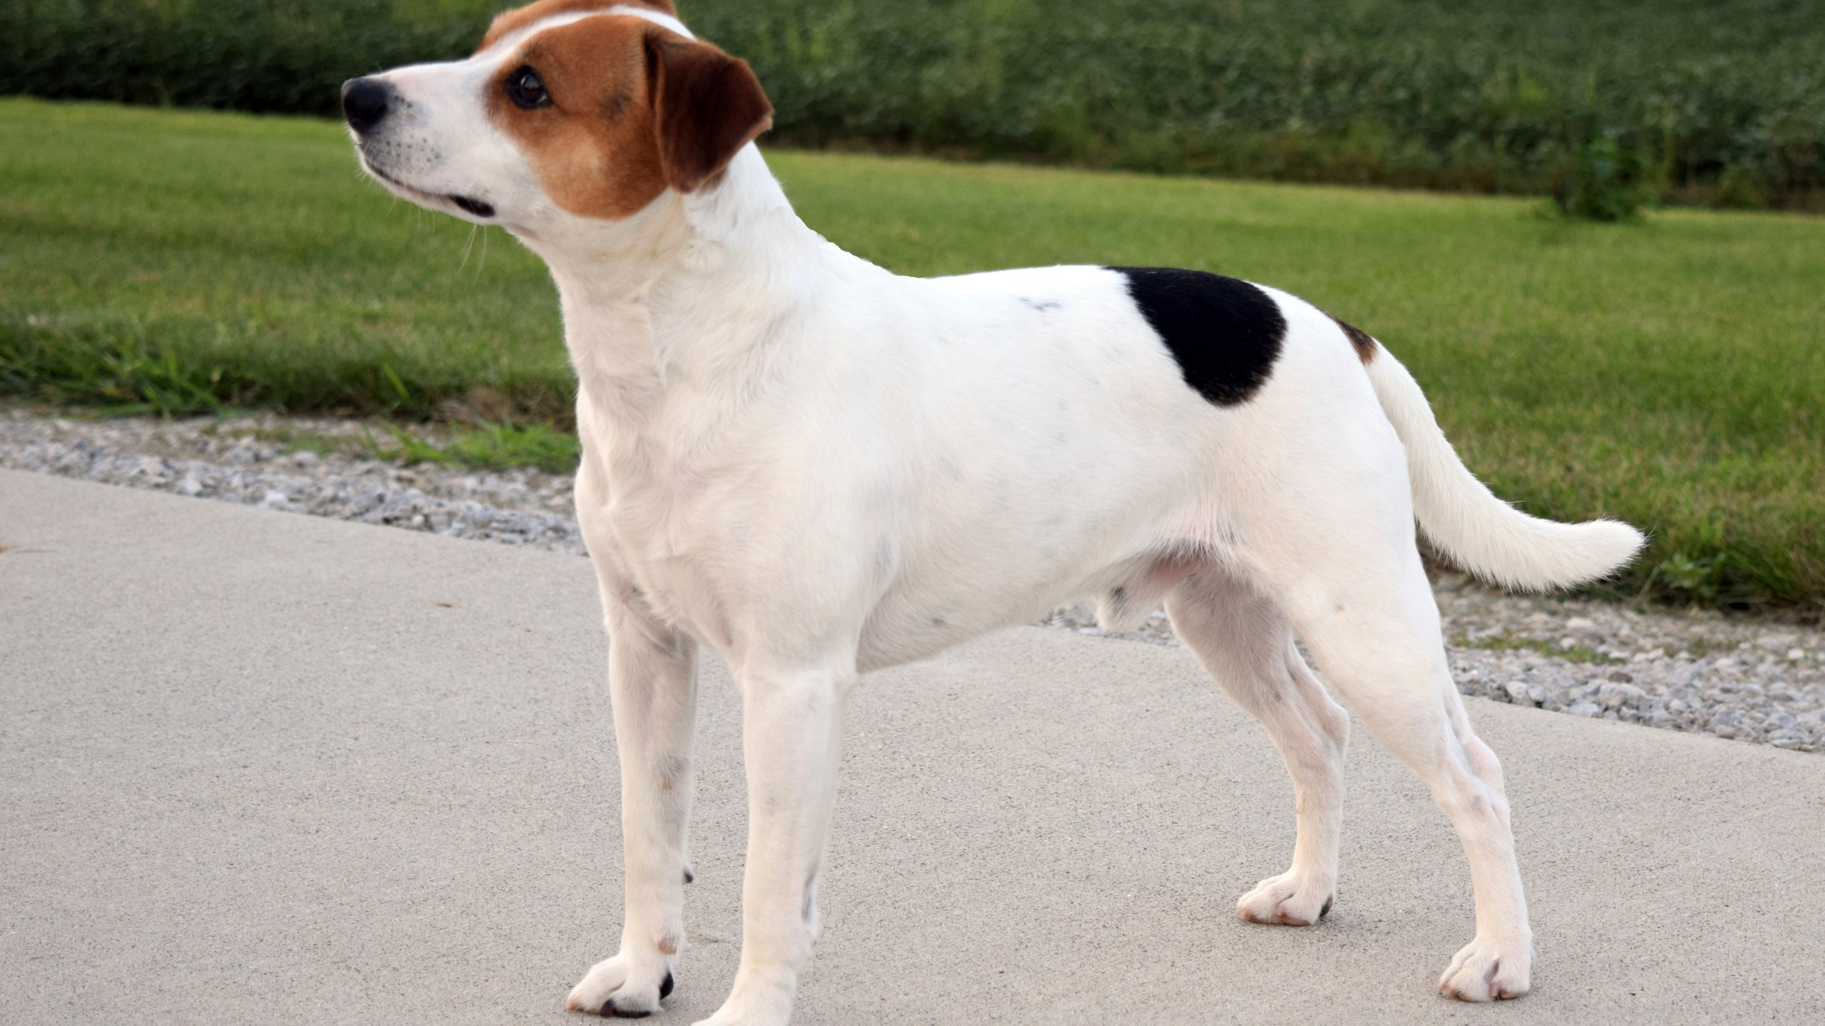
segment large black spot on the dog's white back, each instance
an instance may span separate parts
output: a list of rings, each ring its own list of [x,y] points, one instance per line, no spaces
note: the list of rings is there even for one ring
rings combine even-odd
[[[1274,372],[1287,318],[1272,296],[1204,270],[1111,267],[1179,361],[1179,376],[1217,405],[1248,402]]]

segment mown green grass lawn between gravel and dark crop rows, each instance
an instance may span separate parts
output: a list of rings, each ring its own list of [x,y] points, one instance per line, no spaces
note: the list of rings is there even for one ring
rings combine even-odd
[[[1177,265],[1376,334],[1529,511],[1653,531],[1624,592],[1825,608],[1825,221],[776,152],[905,274]],[[562,424],[542,267],[365,183],[321,120],[0,100],[0,389]]]

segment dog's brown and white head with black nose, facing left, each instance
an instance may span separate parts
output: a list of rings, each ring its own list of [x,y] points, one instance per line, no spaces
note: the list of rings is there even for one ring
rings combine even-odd
[[[746,62],[695,40],[670,0],[538,0],[467,60],[350,79],[341,102],[389,190],[526,232],[714,188],[772,124]]]

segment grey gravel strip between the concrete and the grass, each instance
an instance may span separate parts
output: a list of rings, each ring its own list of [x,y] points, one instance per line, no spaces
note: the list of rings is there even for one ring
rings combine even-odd
[[[274,414],[75,420],[11,407],[0,411],[0,467],[582,555],[568,475],[405,467],[374,458],[363,444],[369,431],[361,422]],[[1438,575],[1434,590],[1464,694],[1825,750],[1818,628],[1504,595],[1458,573]],[[1088,606],[1075,606],[1044,626],[1177,644],[1163,613],[1110,633]]]

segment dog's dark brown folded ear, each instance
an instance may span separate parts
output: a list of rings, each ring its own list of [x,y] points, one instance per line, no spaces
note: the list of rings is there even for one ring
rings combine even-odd
[[[692,192],[774,124],[746,60],[668,31],[646,35],[646,82],[666,184]]]

